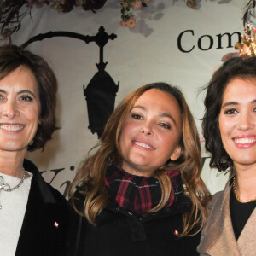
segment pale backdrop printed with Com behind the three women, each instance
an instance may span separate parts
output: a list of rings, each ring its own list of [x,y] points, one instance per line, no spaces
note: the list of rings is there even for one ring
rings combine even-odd
[[[100,26],[117,38],[104,48],[106,71],[119,91],[115,104],[131,90],[152,82],[166,82],[182,90],[194,114],[201,134],[204,93],[199,93],[221,64],[221,57],[233,51],[242,32],[242,8],[246,0],[201,0],[199,9],[189,9],[185,1],[151,0],[148,7],[134,12],[137,26],[132,30],[119,26],[118,0],[108,0],[96,13],[80,7],[68,14],[44,6],[33,8],[22,20],[13,44],[23,44],[39,33],[77,32],[94,36]],[[97,72],[99,47],[74,38],[47,38],[27,49],[42,55],[53,67],[59,82],[57,119],[60,130],[44,152],[27,157],[34,161],[44,178],[62,194],[72,181],[77,166],[97,143],[97,135],[88,130],[89,120],[83,85]],[[202,143],[202,148],[204,144]],[[207,157],[204,149],[202,157]],[[228,175],[218,175],[205,160],[202,178],[212,193],[223,189]],[[218,177],[217,177],[218,176]]]

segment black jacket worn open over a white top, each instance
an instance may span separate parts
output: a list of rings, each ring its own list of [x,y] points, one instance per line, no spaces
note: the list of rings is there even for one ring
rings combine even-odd
[[[65,255],[69,205],[32,162],[25,160],[24,168],[33,177],[15,256]]]

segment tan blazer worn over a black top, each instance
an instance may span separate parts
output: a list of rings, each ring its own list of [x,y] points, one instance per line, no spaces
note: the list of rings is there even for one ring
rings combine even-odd
[[[212,197],[207,225],[197,248],[202,255],[252,255],[256,251],[256,211],[253,211],[236,242],[230,218],[230,189],[229,181],[224,191]]]

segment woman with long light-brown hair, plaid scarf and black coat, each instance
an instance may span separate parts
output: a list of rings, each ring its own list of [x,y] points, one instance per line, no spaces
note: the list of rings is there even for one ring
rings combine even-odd
[[[164,83],[134,90],[73,180],[73,255],[197,255],[209,200],[200,176],[200,141],[181,91]]]

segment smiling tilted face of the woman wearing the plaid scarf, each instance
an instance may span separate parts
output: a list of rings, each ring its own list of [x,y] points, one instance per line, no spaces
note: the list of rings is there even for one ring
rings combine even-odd
[[[181,154],[181,112],[177,100],[161,90],[147,90],[125,119],[119,137],[122,168],[149,177]]]

